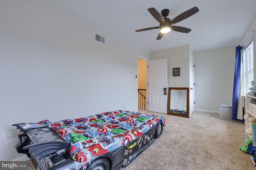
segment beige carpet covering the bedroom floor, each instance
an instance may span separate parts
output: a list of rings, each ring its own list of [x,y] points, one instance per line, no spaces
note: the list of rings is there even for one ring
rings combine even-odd
[[[190,118],[166,117],[162,136],[122,170],[255,170],[244,145],[244,123],[195,111]],[[28,170],[34,170],[31,161]]]

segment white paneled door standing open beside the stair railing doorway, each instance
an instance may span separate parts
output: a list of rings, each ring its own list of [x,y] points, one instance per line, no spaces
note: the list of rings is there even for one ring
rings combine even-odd
[[[148,111],[167,114],[167,90],[167,59],[148,61]]]

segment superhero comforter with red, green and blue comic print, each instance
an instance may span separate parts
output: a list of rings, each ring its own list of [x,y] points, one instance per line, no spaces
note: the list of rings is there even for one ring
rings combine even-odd
[[[47,125],[62,139],[71,143],[72,159],[87,162],[142,136],[159,121],[166,125],[164,117],[119,110],[79,119],[54,123],[44,120],[39,123]]]

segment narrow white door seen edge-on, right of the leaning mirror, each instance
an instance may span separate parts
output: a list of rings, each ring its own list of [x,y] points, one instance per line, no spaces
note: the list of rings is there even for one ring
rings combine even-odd
[[[195,110],[195,60],[190,55],[190,109],[189,114],[191,115]]]

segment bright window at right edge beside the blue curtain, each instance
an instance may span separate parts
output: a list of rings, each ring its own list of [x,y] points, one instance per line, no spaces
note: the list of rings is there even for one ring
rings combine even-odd
[[[252,87],[251,81],[253,78],[253,37],[249,39],[249,41],[243,47],[243,94],[245,95]]]

